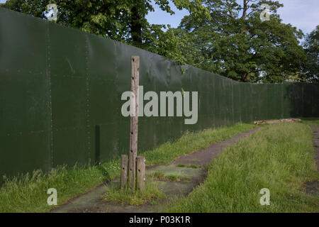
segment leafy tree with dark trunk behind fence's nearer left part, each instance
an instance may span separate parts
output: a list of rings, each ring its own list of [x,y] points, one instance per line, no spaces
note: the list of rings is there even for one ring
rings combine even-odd
[[[188,9],[197,15],[206,13],[199,0],[174,0],[177,9]],[[47,4],[57,4],[57,23],[79,28],[82,31],[129,43],[140,48],[150,41],[147,29],[151,26],[145,16],[154,11],[151,0],[9,0],[4,7],[46,18]],[[174,14],[168,0],[156,0],[155,4],[167,13]]]

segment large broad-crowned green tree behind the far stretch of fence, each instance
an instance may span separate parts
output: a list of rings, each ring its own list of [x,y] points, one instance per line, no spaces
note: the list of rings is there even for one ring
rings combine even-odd
[[[218,72],[241,82],[283,82],[300,72],[306,59],[290,24],[281,23],[278,1],[203,1],[211,18],[185,16],[179,26],[193,45],[183,47],[190,65]],[[262,4],[269,5],[270,21],[261,21]]]

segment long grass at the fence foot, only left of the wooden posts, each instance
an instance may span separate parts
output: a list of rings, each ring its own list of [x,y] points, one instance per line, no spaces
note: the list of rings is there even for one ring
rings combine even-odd
[[[48,211],[55,206],[47,205],[47,189],[57,189],[57,203],[62,204],[115,177],[119,170],[120,163],[112,161],[98,167],[57,167],[47,174],[36,170],[32,175],[5,179],[0,189],[0,212]]]

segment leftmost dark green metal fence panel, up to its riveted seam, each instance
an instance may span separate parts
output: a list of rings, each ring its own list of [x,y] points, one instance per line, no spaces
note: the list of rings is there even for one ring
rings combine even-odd
[[[47,23],[0,10],[0,176],[50,170]]]

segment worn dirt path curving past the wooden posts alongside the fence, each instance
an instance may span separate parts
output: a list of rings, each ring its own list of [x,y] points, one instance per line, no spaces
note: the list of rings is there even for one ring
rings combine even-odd
[[[66,204],[62,204],[51,212],[113,212],[113,213],[133,213],[133,212],[155,212],[164,206],[168,199],[179,196],[186,196],[194,187],[205,179],[206,172],[203,166],[207,165],[211,160],[216,158],[225,148],[234,145],[238,140],[246,138],[248,135],[259,130],[260,127],[253,128],[251,131],[240,133],[233,138],[223,140],[220,143],[214,143],[205,150],[197,150],[189,155],[184,155],[169,165],[158,165],[147,168],[147,175],[152,172],[162,172],[164,176],[174,175],[187,177],[187,180],[180,182],[157,181],[158,187],[167,195],[166,199],[158,201],[158,204],[145,204],[141,206],[122,206],[121,204],[114,204],[101,199],[101,196],[107,192],[111,184],[119,184],[118,178],[113,179],[109,184],[101,184],[90,192],[86,192],[74,199],[71,199]],[[179,167],[184,164],[185,167]],[[179,166],[178,166],[179,165]],[[186,165],[198,165],[201,167],[193,168]]]

